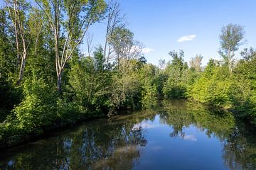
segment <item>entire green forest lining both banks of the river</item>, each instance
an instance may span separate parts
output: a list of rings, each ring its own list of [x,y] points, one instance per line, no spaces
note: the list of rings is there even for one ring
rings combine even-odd
[[[0,7],[1,148],[163,98],[228,109],[256,125],[256,51],[238,54],[245,43],[239,24],[216,35],[221,60],[203,67],[203,55],[186,62],[186,52],[170,49],[170,60],[156,66],[118,1],[5,0]],[[105,43],[92,47],[90,28],[101,22]]]

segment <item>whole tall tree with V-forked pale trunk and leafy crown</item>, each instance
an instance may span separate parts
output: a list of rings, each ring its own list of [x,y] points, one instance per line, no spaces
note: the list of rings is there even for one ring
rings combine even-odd
[[[65,65],[85,37],[93,23],[104,17],[104,0],[36,0],[49,21],[55,40],[55,68],[57,89],[61,92],[61,79]]]

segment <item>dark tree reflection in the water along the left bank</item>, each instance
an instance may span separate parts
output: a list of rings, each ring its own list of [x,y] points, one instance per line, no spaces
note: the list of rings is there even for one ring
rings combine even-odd
[[[125,118],[125,123],[97,120],[47,142],[21,147],[18,154],[9,150],[0,158],[4,159],[0,169],[132,169],[146,145],[142,128],[132,128],[147,114]]]

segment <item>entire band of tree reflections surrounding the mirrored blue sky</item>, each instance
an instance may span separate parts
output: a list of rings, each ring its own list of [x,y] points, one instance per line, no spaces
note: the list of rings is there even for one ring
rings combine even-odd
[[[143,121],[170,126],[171,137],[191,137],[191,125],[223,142],[229,169],[256,169],[256,137],[230,112],[211,111],[198,103],[163,101],[138,113],[80,125],[31,145],[0,154],[0,169],[133,169],[147,145]],[[193,138],[191,139],[193,140]]]

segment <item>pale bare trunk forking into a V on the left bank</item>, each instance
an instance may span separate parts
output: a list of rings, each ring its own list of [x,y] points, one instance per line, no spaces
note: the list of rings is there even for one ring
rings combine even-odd
[[[65,43],[63,45],[62,51],[60,52],[60,40],[59,40],[59,34],[61,28],[63,27],[63,22],[61,21],[61,11],[63,10],[62,6],[63,1],[46,1],[46,4],[48,4],[48,7],[42,6],[42,4],[39,1],[36,1],[36,4],[43,10],[43,12],[46,14],[46,17],[48,18],[48,21],[50,22],[50,27],[54,31],[54,39],[55,39],[55,69],[57,74],[57,89],[58,92],[61,93],[61,84],[62,84],[62,75],[63,70],[65,69],[65,64],[70,60],[70,57],[72,57],[73,52],[77,49],[78,45],[82,42],[83,38],[85,37],[85,33],[87,33],[87,30],[91,26],[92,23],[94,23],[94,18],[90,17],[90,15],[94,12],[93,7],[90,6],[90,8],[87,9],[87,12],[85,15],[82,16],[82,19],[80,20],[80,23],[76,23],[73,21],[74,18],[78,17],[80,14],[82,14],[82,11],[75,11],[73,10],[76,6],[80,6],[80,3],[75,2],[72,6],[68,6],[66,9],[69,11],[67,18],[63,19],[63,21],[67,21],[68,28],[67,28],[67,34],[63,35],[63,40],[65,40]],[[75,4],[77,3],[77,4]],[[47,9],[47,11],[45,10]],[[78,26],[78,33],[75,34],[73,27]],[[62,45],[61,45],[62,46]]]

